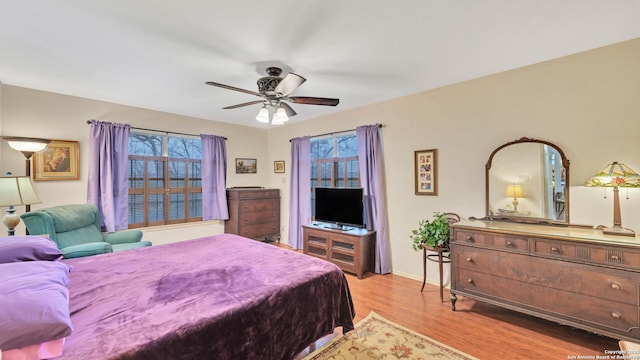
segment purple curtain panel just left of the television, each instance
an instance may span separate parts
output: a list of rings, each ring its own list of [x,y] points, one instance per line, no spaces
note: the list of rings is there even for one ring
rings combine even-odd
[[[311,223],[311,143],[308,136],[291,140],[289,246],[302,248],[302,225]]]

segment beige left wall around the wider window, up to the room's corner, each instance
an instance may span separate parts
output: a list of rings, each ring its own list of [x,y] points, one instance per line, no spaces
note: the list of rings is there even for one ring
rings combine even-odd
[[[34,187],[42,204],[33,209],[68,203],[85,203],[87,197],[87,164],[89,125],[87,120],[127,123],[134,127],[175,131],[188,134],[215,134],[227,137],[228,186],[264,185],[271,167],[267,164],[267,136],[263,129],[235,126],[175,114],[162,113],[102,101],[54,94],[15,86],[2,86],[0,124],[4,136],[31,136],[80,142],[80,180],[35,181]],[[235,174],[235,158],[257,158],[257,174]],[[24,157],[0,144],[0,173],[24,173]],[[262,165],[262,166],[261,166]],[[1,209],[4,211],[4,209]],[[18,209],[20,213],[23,208]],[[0,230],[4,232],[4,230]],[[176,225],[145,229],[145,239],[154,244],[185,240],[224,232],[223,223],[210,221],[201,224]],[[16,233],[24,234],[21,224]]]

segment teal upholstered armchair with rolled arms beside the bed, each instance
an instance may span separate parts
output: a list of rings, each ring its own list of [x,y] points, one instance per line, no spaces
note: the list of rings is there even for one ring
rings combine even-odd
[[[151,246],[142,231],[100,232],[100,213],[93,204],[61,205],[20,215],[29,234],[48,235],[65,259]]]

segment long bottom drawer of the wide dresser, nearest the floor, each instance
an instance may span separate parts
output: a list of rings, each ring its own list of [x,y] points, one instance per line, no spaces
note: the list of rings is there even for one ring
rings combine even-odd
[[[460,269],[456,289],[559,318],[627,332],[640,326],[638,307],[593,296]]]

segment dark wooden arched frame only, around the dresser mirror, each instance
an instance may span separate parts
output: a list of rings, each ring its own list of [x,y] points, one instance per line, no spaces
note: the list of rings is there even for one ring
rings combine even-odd
[[[525,216],[513,216],[513,215],[495,215],[495,214],[491,214],[490,213],[490,208],[489,208],[489,198],[490,198],[490,194],[489,194],[489,170],[491,170],[491,165],[493,162],[493,157],[496,155],[496,153],[498,153],[498,151],[511,146],[511,145],[516,145],[516,144],[523,144],[523,143],[538,143],[538,144],[542,144],[542,145],[548,145],[552,148],[554,148],[559,154],[560,157],[562,159],[562,167],[565,170],[565,189],[564,189],[564,196],[565,196],[565,219],[566,220],[553,220],[553,219],[548,219],[548,218],[532,218],[532,217],[525,217]],[[485,165],[485,194],[486,194],[486,201],[485,201],[485,218],[488,220],[504,220],[504,221],[512,221],[512,222],[519,222],[519,223],[529,223],[529,224],[551,224],[551,225],[569,225],[569,188],[570,188],[570,182],[569,182],[569,165],[570,165],[570,161],[569,159],[567,159],[567,157],[564,155],[564,152],[562,151],[562,149],[560,149],[556,144],[545,141],[545,140],[538,140],[538,139],[532,139],[532,138],[528,138],[528,137],[522,137],[518,140],[514,140],[514,141],[510,141],[506,144],[503,144],[499,147],[497,147],[495,150],[493,150],[493,152],[491,153],[491,155],[489,155],[489,160],[487,160],[487,163]]]

